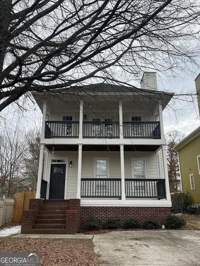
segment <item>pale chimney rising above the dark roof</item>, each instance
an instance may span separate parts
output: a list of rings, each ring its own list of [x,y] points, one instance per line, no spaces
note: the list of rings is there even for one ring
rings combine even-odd
[[[141,89],[158,90],[156,72],[144,72],[140,87]]]

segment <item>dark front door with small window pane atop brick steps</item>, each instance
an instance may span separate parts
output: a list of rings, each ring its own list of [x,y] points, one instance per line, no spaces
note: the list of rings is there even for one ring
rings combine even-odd
[[[64,199],[65,169],[65,164],[51,165],[49,199]]]

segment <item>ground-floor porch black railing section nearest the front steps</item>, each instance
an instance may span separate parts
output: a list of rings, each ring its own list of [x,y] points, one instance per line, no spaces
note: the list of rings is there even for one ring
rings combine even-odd
[[[83,178],[81,179],[82,198],[120,198],[121,179]]]

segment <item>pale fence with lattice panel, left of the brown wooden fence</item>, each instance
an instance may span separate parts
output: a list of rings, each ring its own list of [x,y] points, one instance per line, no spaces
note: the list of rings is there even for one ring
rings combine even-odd
[[[14,200],[14,198],[7,198],[6,196],[0,199],[0,227],[12,222]]]

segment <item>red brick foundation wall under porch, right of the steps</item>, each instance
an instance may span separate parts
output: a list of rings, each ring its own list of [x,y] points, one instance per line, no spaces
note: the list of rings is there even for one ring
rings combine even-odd
[[[170,207],[81,207],[80,227],[85,228],[89,217],[99,218],[103,223],[108,218],[121,219],[122,227],[128,218],[139,219],[142,223],[153,218],[162,225],[168,215],[171,215]]]

